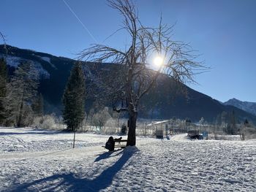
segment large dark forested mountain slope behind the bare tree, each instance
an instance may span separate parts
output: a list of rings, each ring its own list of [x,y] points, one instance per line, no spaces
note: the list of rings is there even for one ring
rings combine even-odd
[[[7,46],[7,54],[3,45],[0,45],[0,57],[7,59],[10,74],[21,61],[31,61],[39,70],[40,83],[39,92],[42,93],[45,101],[45,112],[55,112],[61,115],[63,108],[61,104],[62,94],[69,77],[70,69],[76,62],[70,58],[56,57],[48,53],[39,53],[34,50],[24,50],[18,47]],[[98,64],[103,73],[113,70],[115,64]],[[83,62],[85,74],[95,74],[91,63]],[[90,86],[86,81],[86,86]],[[167,119],[167,118],[189,118],[197,122],[204,118],[209,122],[214,122],[217,115],[225,112],[235,112],[236,117],[241,122],[247,118],[256,123],[256,116],[230,105],[221,104],[219,101],[197,92],[186,85],[187,94],[176,93],[176,83],[169,77],[162,75],[157,80],[157,85],[144,96],[140,104],[140,118]],[[95,88],[97,90],[97,88]],[[102,90],[104,91],[104,90]],[[93,99],[86,101],[86,111],[89,111]]]

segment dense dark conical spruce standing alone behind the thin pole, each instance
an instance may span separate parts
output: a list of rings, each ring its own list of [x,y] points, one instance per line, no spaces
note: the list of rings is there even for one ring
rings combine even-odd
[[[76,131],[85,114],[86,80],[80,63],[73,66],[63,94],[63,119],[67,130]]]

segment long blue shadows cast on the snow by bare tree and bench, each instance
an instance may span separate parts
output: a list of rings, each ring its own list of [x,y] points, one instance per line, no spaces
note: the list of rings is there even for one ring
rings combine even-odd
[[[98,177],[93,180],[89,178],[75,177],[75,174],[54,174],[50,177],[34,180],[31,183],[16,185],[10,191],[100,191],[108,188],[113,181],[113,177],[121,170],[124,164],[132,157],[136,150],[123,150],[121,158],[113,166],[105,169]],[[103,158],[108,158],[105,153]],[[100,155],[99,155],[100,156]],[[108,155],[109,156],[109,155]],[[98,157],[98,161],[99,161]],[[95,160],[96,161],[96,160]]]

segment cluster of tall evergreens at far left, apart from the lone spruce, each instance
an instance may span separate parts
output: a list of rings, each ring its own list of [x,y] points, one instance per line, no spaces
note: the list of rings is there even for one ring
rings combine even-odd
[[[9,76],[6,61],[0,59],[0,125],[29,126],[35,116],[42,115],[38,85],[39,73],[31,62],[20,63]]]

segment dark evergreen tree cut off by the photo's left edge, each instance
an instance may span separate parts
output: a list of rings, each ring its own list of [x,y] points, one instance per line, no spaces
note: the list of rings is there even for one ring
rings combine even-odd
[[[0,59],[0,124],[2,124],[6,118],[4,99],[7,93],[7,64],[4,58]]]

